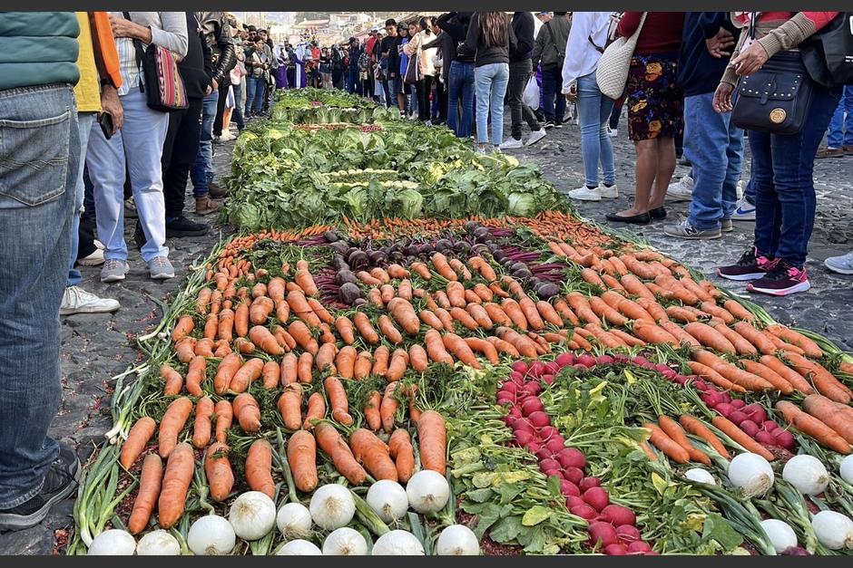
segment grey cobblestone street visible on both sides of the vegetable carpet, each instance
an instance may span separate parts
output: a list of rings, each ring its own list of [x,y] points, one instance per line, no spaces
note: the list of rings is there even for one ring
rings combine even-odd
[[[604,215],[627,207],[633,194],[632,145],[623,130],[615,139],[617,185],[620,197],[598,203],[582,202],[577,208],[593,221],[605,224]],[[508,132],[508,129],[507,129]],[[229,168],[232,144],[216,146],[215,165],[217,177]],[[579,187],[583,183],[578,127],[566,125],[562,130],[551,130],[547,137],[531,148],[514,153],[522,161],[531,161],[544,170],[545,177],[563,192]],[[749,159],[745,160],[749,164]],[[676,176],[686,173],[679,167]],[[796,325],[820,332],[838,346],[853,351],[853,277],[841,276],[828,271],[823,260],[853,249],[853,156],[841,159],[818,160],[816,171],[818,188],[818,217],[811,241],[809,255],[809,279],[812,289],[807,294],[795,294],[788,298],[774,299],[768,296],[750,300],[764,306],[781,323]],[[748,179],[748,173],[744,173]],[[687,203],[669,205],[670,218],[687,210]],[[187,210],[192,211],[191,196]],[[196,217],[215,224],[211,217]],[[177,277],[163,283],[152,282],[142,259],[132,245],[134,221],[127,223],[125,235],[131,248],[131,272],[121,284],[101,284],[100,267],[83,267],[82,287],[95,294],[113,297],[122,303],[122,308],[113,315],[74,315],[63,318],[62,358],[64,401],[54,420],[51,434],[73,443],[81,460],[90,456],[94,445],[103,441],[103,433],[111,428],[109,397],[113,384],[110,378],[139,362],[140,355],[132,347],[133,339],[149,331],[162,316],[159,303],[167,302],[181,286],[188,266],[209,254],[211,247],[229,229],[212,226],[207,236],[169,239],[170,258],[175,265]],[[634,230],[634,229],[628,229]],[[751,243],[751,223],[735,224],[735,231],[722,239],[713,241],[681,241],[664,236],[662,222],[639,227],[634,234],[642,236],[651,245],[666,255],[693,266],[704,274],[711,275],[721,263],[730,263],[740,256]],[[744,294],[743,285],[721,280],[716,276],[711,281],[730,289],[735,294]],[[64,535],[72,525],[73,501],[66,500],[54,508],[41,525],[18,533],[0,534],[0,554],[51,554],[57,543],[62,545]]]

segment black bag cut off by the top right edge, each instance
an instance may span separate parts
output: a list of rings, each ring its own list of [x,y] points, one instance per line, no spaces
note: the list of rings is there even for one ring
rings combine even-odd
[[[853,85],[853,12],[839,12],[799,51],[815,82],[824,87]]]

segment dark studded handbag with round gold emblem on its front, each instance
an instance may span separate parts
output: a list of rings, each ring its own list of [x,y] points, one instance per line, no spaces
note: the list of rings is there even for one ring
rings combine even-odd
[[[754,25],[750,37],[755,38]],[[759,71],[740,78],[731,120],[744,130],[796,134],[806,121],[813,91],[802,54],[777,53]]]

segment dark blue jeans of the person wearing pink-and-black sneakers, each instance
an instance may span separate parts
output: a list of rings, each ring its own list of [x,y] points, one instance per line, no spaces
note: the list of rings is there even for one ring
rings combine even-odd
[[[841,88],[815,85],[803,130],[750,130],[755,179],[755,246],[759,254],[802,267],[815,222],[815,152],[838,106]]]

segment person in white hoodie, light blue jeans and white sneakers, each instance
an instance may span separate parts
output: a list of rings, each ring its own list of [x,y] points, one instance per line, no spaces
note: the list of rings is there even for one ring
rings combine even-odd
[[[570,191],[569,197],[583,201],[619,197],[613,142],[607,133],[614,101],[602,94],[595,78],[609,28],[610,12],[575,12],[565,46],[563,92],[567,101],[577,102],[586,177],[583,186]],[[599,164],[603,179],[599,177]]]

